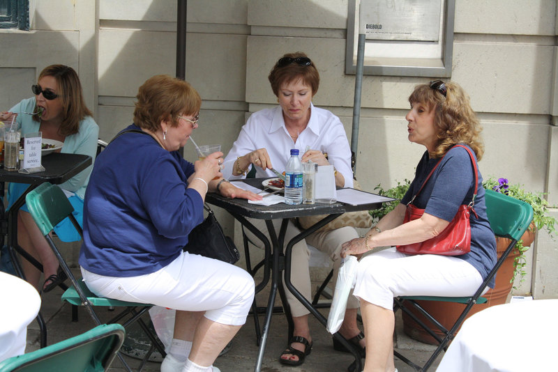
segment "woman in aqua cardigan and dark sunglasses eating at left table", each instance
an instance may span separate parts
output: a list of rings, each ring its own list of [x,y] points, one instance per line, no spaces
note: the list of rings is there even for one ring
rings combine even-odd
[[[22,100],[1,114],[5,123],[11,123],[21,130],[22,137],[27,133],[42,132],[43,138],[63,142],[61,153],[89,155],[95,159],[99,127],[85,106],[82,85],[77,73],[66,65],[50,65],[40,72],[38,82],[31,86],[35,94]],[[29,114],[27,114],[29,113]],[[68,195],[74,207],[74,215],[82,222],[83,198],[92,166],[84,169],[60,187]],[[29,185],[10,183],[8,188],[8,208],[20,197]],[[54,228],[56,235],[64,242],[80,240],[69,219]],[[38,290],[52,290],[66,279],[59,263],[47,241],[36,226],[27,210],[22,206],[17,221],[17,242],[33,257],[43,264],[45,281],[39,284],[40,271],[27,260],[22,260],[25,277]]]

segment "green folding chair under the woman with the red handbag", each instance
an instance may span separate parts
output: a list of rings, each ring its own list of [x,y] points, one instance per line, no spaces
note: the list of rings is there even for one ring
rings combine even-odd
[[[494,192],[492,190],[486,190],[485,194],[485,201],[486,201],[486,212],[488,214],[488,221],[490,221],[490,227],[492,231],[494,231],[495,235],[508,238],[511,240],[510,245],[502,257],[499,258],[492,271],[488,274],[488,277],[483,281],[476,293],[471,297],[429,297],[429,296],[403,296],[395,298],[395,303],[393,310],[397,311],[401,309],[405,311],[407,315],[409,315],[418,325],[420,325],[425,332],[428,332],[430,336],[434,337],[436,341],[439,343],[436,350],[430,356],[430,359],[423,365],[418,366],[414,364],[414,362],[410,361],[399,352],[394,351],[396,357],[401,359],[403,362],[412,366],[415,371],[427,371],[428,368],[432,365],[435,359],[438,357],[439,353],[448,348],[448,344],[455,333],[459,330],[459,327],[465,320],[465,317],[472,309],[474,304],[483,304],[487,302],[485,297],[481,297],[481,294],[484,292],[488,282],[495,277],[497,270],[502,266],[504,260],[510,254],[513,247],[515,247],[515,243],[521,239],[521,235],[525,233],[527,228],[529,228],[529,224],[533,219],[533,208],[528,203],[524,201],[519,201],[517,199],[513,199],[510,196],[499,194],[498,192]],[[436,320],[433,316],[425,311],[419,304],[416,303],[416,300],[430,300],[430,301],[446,301],[446,302],[458,302],[461,304],[466,304],[467,306],[462,311],[461,315],[455,323],[451,327],[450,330],[447,330],[438,320]],[[415,309],[418,313],[421,313],[425,318],[428,319],[430,325],[425,324],[421,319],[417,318],[417,316],[409,310],[409,308]],[[436,327],[437,330],[442,332],[444,338],[440,337],[437,333],[434,332],[433,327]]]

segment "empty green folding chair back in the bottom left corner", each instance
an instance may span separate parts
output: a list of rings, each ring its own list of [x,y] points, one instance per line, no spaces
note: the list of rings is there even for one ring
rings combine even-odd
[[[54,345],[0,362],[0,372],[106,371],[124,341],[124,327],[104,324]]]

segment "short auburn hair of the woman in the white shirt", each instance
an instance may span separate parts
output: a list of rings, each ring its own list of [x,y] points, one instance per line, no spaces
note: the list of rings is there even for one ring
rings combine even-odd
[[[287,53],[281,58],[285,57],[289,57],[292,59],[296,59],[298,57],[308,58],[308,56],[303,52]],[[267,78],[271,83],[273,94],[275,94],[276,96],[279,96],[279,89],[281,88],[282,84],[295,82],[298,79],[302,79],[302,82],[304,84],[312,88],[312,96],[317,93],[319,87],[319,73],[313,61],[308,66],[301,66],[296,63],[290,63],[282,67],[279,67],[279,61],[277,61],[271,69],[271,72],[269,72],[269,76]]]

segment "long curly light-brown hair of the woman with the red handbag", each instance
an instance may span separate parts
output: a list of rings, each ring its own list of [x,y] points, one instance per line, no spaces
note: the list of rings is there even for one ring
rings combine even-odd
[[[466,144],[481,160],[484,144],[481,138],[483,128],[469,102],[469,95],[457,83],[445,83],[446,97],[430,84],[421,84],[409,95],[409,102],[425,104],[435,109],[434,125],[437,130],[437,144],[430,153],[432,157],[442,157],[455,144]]]

